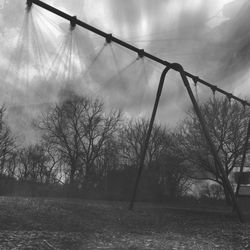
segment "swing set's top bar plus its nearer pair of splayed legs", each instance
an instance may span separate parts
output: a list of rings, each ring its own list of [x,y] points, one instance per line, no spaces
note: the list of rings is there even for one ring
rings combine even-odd
[[[144,148],[143,148],[143,154],[141,156],[141,160],[140,160],[140,166],[139,166],[139,172],[138,172],[138,175],[137,175],[137,179],[136,179],[136,184],[135,184],[135,188],[134,188],[134,192],[133,192],[133,197],[132,197],[132,200],[131,200],[131,203],[130,203],[130,208],[132,209],[133,208],[133,204],[134,204],[134,200],[135,200],[135,197],[136,197],[136,192],[137,192],[137,187],[138,187],[138,184],[139,184],[139,180],[140,180],[140,176],[141,176],[141,173],[142,173],[142,169],[143,169],[143,165],[144,165],[144,159],[145,159],[145,155],[146,155],[146,151],[147,151],[147,147],[148,147],[148,143],[149,143],[149,139],[150,139],[150,136],[151,136],[151,131],[152,131],[152,128],[153,128],[153,124],[154,124],[154,118],[155,118],[155,115],[156,115],[156,112],[157,112],[157,108],[158,108],[158,103],[159,103],[159,100],[160,100],[160,95],[161,95],[161,90],[162,90],[162,87],[163,87],[163,83],[164,83],[164,78],[165,78],[165,75],[167,74],[168,70],[169,69],[173,69],[175,71],[178,71],[181,75],[181,78],[183,80],[183,83],[187,89],[187,92],[189,94],[189,97],[191,99],[191,102],[194,106],[194,110],[198,116],[198,119],[201,123],[201,126],[202,126],[202,130],[203,130],[203,133],[205,135],[205,138],[207,140],[207,143],[209,145],[209,148],[210,148],[210,151],[211,153],[213,154],[214,156],[214,159],[215,159],[215,163],[217,164],[218,168],[219,168],[219,171],[223,177],[223,181],[226,185],[226,188],[228,189],[229,193],[230,193],[230,196],[231,196],[231,199],[232,199],[232,202],[233,202],[233,206],[235,207],[235,210],[238,214],[238,217],[239,217],[239,220],[242,222],[242,215],[241,215],[241,211],[240,211],[240,208],[237,204],[237,200],[235,198],[235,194],[233,192],[233,189],[232,189],[232,186],[228,180],[228,177],[225,173],[225,170],[223,168],[223,165],[219,159],[219,156],[216,152],[216,148],[213,144],[213,141],[211,139],[211,136],[208,132],[208,129],[206,127],[206,124],[205,124],[205,121],[204,121],[204,118],[201,114],[201,111],[199,109],[199,106],[195,100],[195,97],[193,95],[193,92],[190,88],[190,85],[189,85],[189,81],[188,81],[188,78],[192,78],[195,82],[197,83],[200,83],[202,85],[205,85],[209,88],[211,88],[211,90],[213,92],[217,91],[217,92],[220,92],[221,94],[227,96],[228,98],[230,99],[234,99],[238,102],[240,102],[242,105],[244,106],[250,106],[250,103],[248,103],[247,101],[243,100],[243,99],[240,99],[238,98],[237,96],[221,89],[221,88],[218,88],[216,85],[213,85],[211,83],[208,83],[202,79],[200,79],[199,77],[189,73],[189,72],[186,72],[184,71],[183,67],[180,65],[180,64],[176,64],[176,63],[170,63],[168,61],[165,61],[165,60],[162,60],[160,59],[159,57],[156,57],[150,53],[147,53],[146,51],[144,51],[143,49],[139,49],[129,43],[126,43],[116,37],[114,37],[112,34],[108,34],[108,33],[105,33],[79,19],[77,19],[76,16],[70,16],[69,14],[65,13],[65,12],[62,12],[42,1],[39,1],[39,0],[27,0],[27,11],[30,11],[30,9],[32,8],[32,4],[36,4],[38,6],[40,6],[41,8],[44,8],[66,20],[68,20],[71,24],[71,26],[80,26],[80,27],[83,27],[91,32],[94,32],[95,34],[99,35],[99,36],[102,36],[106,39],[106,42],[107,43],[110,43],[110,42],[114,42],[114,43],[117,43],[119,44],[120,46],[123,46],[131,51],[134,51],[135,53],[138,54],[139,57],[147,57],[148,59],[152,60],[152,61],[155,61],[157,63],[160,63],[162,65],[164,65],[166,68],[164,69],[163,73],[162,73],[162,77],[161,77],[161,80],[160,80],[160,83],[159,83],[159,87],[158,87],[158,91],[157,91],[157,95],[156,95],[156,100],[155,100],[155,105],[154,105],[154,108],[153,108],[153,112],[152,112],[152,116],[151,116],[151,120],[150,120],[150,126],[148,128],[148,131],[147,131],[147,136],[146,136],[146,140],[145,140],[145,144],[144,144]]]

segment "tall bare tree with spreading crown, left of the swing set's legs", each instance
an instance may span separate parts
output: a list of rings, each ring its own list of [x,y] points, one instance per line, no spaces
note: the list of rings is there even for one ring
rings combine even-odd
[[[106,114],[96,99],[71,95],[42,115],[38,127],[69,166],[69,182],[88,182],[105,145],[117,130],[121,113]]]

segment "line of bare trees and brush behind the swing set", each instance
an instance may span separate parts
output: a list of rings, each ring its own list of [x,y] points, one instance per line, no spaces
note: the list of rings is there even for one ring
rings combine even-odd
[[[210,99],[200,108],[231,179],[240,166],[249,112],[224,98]],[[148,120],[125,119],[120,110],[107,111],[99,99],[70,93],[34,121],[39,141],[20,146],[5,120],[6,113],[2,106],[1,194],[130,198]],[[191,193],[197,180],[217,183],[229,199],[199,121],[190,109],[175,129],[154,125],[139,197],[177,198]]]

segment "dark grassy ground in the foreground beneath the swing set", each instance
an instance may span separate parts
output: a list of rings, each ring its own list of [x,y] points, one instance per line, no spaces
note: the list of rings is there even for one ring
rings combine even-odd
[[[140,203],[0,198],[0,249],[250,249],[250,222]]]

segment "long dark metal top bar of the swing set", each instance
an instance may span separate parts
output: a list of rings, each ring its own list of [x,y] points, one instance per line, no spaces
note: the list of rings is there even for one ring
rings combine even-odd
[[[66,19],[68,21],[70,21],[70,24],[72,26],[79,25],[79,26],[81,26],[81,27],[83,27],[83,28],[85,28],[85,29],[99,35],[99,36],[104,37],[106,39],[107,43],[110,43],[110,42],[117,43],[117,44],[131,50],[131,51],[136,52],[139,57],[147,57],[147,58],[151,59],[152,61],[160,63],[160,64],[162,64],[164,66],[168,66],[171,69],[180,72],[180,68],[176,67],[176,64],[173,64],[173,63],[170,63],[168,61],[162,60],[161,58],[159,58],[157,56],[154,56],[154,55],[144,51],[143,49],[139,49],[139,48],[137,48],[137,47],[135,47],[135,46],[133,46],[133,45],[131,45],[129,43],[126,43],[126,42],[114,37],[112,34],[105,33],[103,31],[101,31],[101,30],[99,30],[99,29],[97,29],[97,28],[95,28],[95,27],[93,27],[93,26],[91,26],[91,25],[77,19],[76,16],[70,16],[69,14],[67,14],[67,13],[65,13],[63,11],[60,11],[60,10],[52,7],[51,5],[48,5],[48,4],[46,4],[46,3],[44,3],[44,2],[42,2],[40,0],[27,0],[28,9],[30,9],[32,7],[32,4],[36,4],[36,5],[38,5],[38,6],[44,8],[44,9],[46,9],[46,10],[48,10],[48,11],[54,13],[54,14],[56,14],[56,15],[64,18],[64,19]],[[233,95],[233,94],[231,94],[231,93],[217,87],[216,85],[213,85],[213,84],[211,84],[209,82],[206,82],[206,81],[200,79],[198,76],[195,76],[195,75],[193,75],[193,74],[191,74],[191,73],[189,73],[187,71],[184,71],[183,73],[187,77],[192,78],[195,83],[201,83],[201,84],[209,87],[213,91],[213,93],[215,93],[217,91],[217,92],[227,96],[229,99],[234,99],[234,100],[240,102],[244,107],[245,106],[250,107],[250,103],[247,102],[246,100],[243,100],[243,99],[241,99],[241,98],[239,98],[239,97],[237,97],[237,96],[235,96],[235,95]]]

